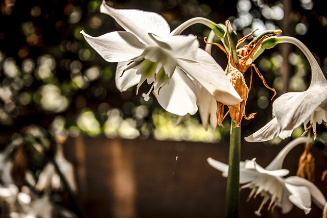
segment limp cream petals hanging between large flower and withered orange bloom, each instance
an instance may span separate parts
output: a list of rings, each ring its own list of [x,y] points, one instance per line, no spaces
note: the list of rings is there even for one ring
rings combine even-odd
[[[211,95],[203,86],[201,86],[198,82],[193,81],[196,87],[196,99],[197,105],[199,107],[199,114],[202,120],[202,125],[205,130],[208,129],[208,122],[210,120],[210,124],[214,130],[217,127],[217,118],[216,118],[216,110],[217,103],[214,99],[214,96]]]

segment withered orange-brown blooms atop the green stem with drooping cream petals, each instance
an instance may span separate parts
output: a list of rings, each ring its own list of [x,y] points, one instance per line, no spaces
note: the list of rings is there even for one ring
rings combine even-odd
[[[225,28],[226,28],[226,33],[232,32],[228,20],[226,21]],[[261,48],[261,44],[264,41],[264,39],[277,35],[281,33],[281,31],[280,30],[266,31],[262,33],[260,36],[258,36],[258,38],[254,38],[250,43],[244,45],[243,47],[240,47],[240,45],[254,32],[255,31],[239,39],[237,41],[237,44],[235,45],[235,51],[230,49],[229,53],[227,52],[227,50],[223,45],[213,42],[213,36],[215,35],[213,34],[213,31],[209,34],[207,40],[205,40],[206,43],[205,51],[207,53],[211,54],[211,46],[217,45],[227,55],[228,65],[225,69],[225,74],[229,79],[229,81],[232,83],[233,87],[237,90],[238,94],[243,99],[243,101],[238,104],[228,105],[229,113],[233,122],[235,122],[235,126],[239,126],[243,117],[246,119],[251,119],[255,115],[255,113],[249,114],[248,116],[246,116],[245,114],[245,105],[248,98],[249,88],[245,82],[243,74],[247,71],[248,68],[251,69],[251,78],[252,78],[252,69],[254,69],[256,74],[258,74],[260,79],[263,81],[264,85],[268,89],[274,91],[274,95],[276,93],[273,88],[270,88],[268,86],[264,77],[260,74],[259,69],[256,68],[252,62],[255,59],[254,55],[256,54],[256,51],[258,51]],[[227,49],[233,46],[229,34],[224,34],[224,37],[222,37],[221,40],[222,41],[227,40],[227,42],[225,42],[225,46],[227,47]],[[235,54],[233,53],[235,53],[238,57],[237,62],[235,62],[234,60]],[[250,86],[251,86],[251,82],[250,82]],[[216,129],[217,124],[219,126],[223,126],[222,122],[226,116],[226,114],[224,114],[224,104],[221,102],[216,102],[212,98],[212,96],[200,86],[196,86],[196,88],[197,88],[197,103],[199,106],[199,113],[204,128],[207,129],[208,123],[210,123],[214,129]]]

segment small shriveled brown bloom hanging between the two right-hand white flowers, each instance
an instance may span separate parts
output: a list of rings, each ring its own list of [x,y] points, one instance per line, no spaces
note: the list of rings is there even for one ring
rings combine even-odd
[[[311,182],[315,179],[315,158],[310,151],[310,143],[306,144],[305,151],[302,153],[298,161],[298,169],[296,175],[305,178]]]

